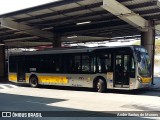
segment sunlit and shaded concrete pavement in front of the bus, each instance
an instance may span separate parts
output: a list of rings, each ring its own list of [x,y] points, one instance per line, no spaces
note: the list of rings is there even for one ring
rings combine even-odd
[[[0,86],[10,86],[1,83]],[[14,85],[13,85],[14,86]],[[159,86],[159,78],[155,79]],[[156,89],[155,87],[154,89]],[[157,88],[158,89],[158,88]],[[24,86],[3,87],[0,89],[0,111],[160,111],[160,93],[154,90],[122,91],[109,90],[106,93],[92,92],[91,89],[43,86],[31,88]],[[110,113],[111,114],[111,113]],[[90,114],[89,114],[90,115]],[[96,115],[96,114],[93,114]],[[14,118],[14,120],[20,118]],[[32,118],[46,119],[46,118]],[[53,118],[47,118],[52,120]],[[56,120],[127,120],[125,117],[55,117]],[[131,120],[140,117],[131,117]],[[141,118],[159,119],[159,118]],[[9,120],[7,118],[7,120]]]

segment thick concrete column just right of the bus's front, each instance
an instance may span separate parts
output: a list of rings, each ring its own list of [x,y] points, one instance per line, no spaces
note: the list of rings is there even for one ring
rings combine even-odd
[[[152,78],[154,74],[154,54],[155,54],[155,29],[154,29],[154,22],[149,22],[149,29],[147,32],[141,32],[141,45],[144,46],[148,54],[151,58],[151,71],[152,71]],[[152,79],[153,84],[153,79]]]

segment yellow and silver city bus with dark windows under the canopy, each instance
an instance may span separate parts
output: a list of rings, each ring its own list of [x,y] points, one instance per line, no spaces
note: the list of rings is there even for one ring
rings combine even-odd
[[[151,65],[141,46],[60,48],[21,52],[9,56],[9,81],[38,85],[57,85],[133,90],[149,87]]]

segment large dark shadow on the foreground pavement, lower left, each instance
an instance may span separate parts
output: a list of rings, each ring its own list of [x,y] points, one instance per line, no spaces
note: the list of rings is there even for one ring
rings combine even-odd
[[[117,114],[124,111],[84,111],[80,109],[71,109],[64,107],[57,107],[51,103],[66,101],[65,99],[55,99],[55,98],[43,98],[34,96],[24,96],[24,95],[13,95],[0,93],[0,111],[9,112],[38,112],[42,114],[42,117],[117,117]],[[86,106],[87,107],[87,106]],[[128,111],[130,112],[130,111]],[[132,111],[134,112],[134,111]],[[127,114],[127,113],[126,113]],[[1,115],[1,114],[0,114]],[[140,117],[138,117],[140,118]],[[14,118],[15,120],[16,118]],[[123,120],[125,117],[123,117]],[[126,118],[127,120],[128,118]],[[142,118],[143,119],[143,118]],[[145,118],[146,119],[146,118]],[[8,120],[8,118],[7,118]],[[106,120],[106,118],[105,118]]]

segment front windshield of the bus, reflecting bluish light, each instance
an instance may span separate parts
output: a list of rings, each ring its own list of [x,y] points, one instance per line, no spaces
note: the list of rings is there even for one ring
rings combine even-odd
[[[137,47],[135,50],[138,61],[138,72],[142,77],[151,76],[151,63],[146,49]]]

